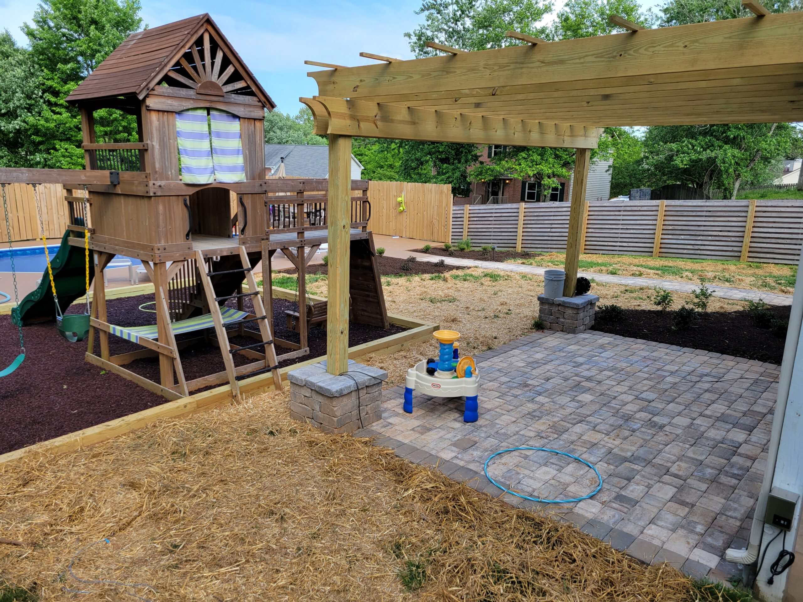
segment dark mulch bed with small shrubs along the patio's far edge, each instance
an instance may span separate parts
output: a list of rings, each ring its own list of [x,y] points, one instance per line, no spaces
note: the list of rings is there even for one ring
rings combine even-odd
[[[769,311],[777,319],[789,319],[788,306],[771,307]],[[625,318],[618,322],[599,319],[597,314],[593,330],[781,364],[785,337],[777,336],[769,328],[756,326],[747,311],[709,311],[696,319],[691,327],[677,331],[672,330],[673,313],[626,309]]]

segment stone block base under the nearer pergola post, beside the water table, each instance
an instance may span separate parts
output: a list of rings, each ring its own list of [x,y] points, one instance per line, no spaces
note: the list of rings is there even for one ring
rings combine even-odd
[[[287,372],[290,415],[325,433],[353,433],[381,418],[388,373],[349,360],[349,376],[326,372],[326,361]]]

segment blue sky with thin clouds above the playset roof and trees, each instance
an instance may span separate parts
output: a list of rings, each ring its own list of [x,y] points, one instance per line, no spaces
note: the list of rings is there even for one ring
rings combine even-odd
[[[655,6],[658,0],[642,5]],[[8,28],[20,43],[19,27],[31,22],[34,0],[0,0],[0,28]],[[317,93],[304,60],[347,65],[373,63],[360,52],[410,59],[404,37],[422,20],[414,14],[421,0],[141,0],[143,21],[154,27],[208,12],[243,57],[259,83],[282,112],[295,114],[299,96]],[[556,2],[556,8],[563,0]]]

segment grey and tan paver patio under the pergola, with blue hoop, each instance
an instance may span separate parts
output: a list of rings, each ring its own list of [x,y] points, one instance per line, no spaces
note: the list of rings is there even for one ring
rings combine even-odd
[[[385,391],[382,420],[357,435],[420,464],[438,465],[491,495],[486,458],[522,445],[560,449],[600,471],[601,491],[547,507],[583,531],[648,563],[693,576],[740,574],[724,561],[744,547],[766,462],[779,367],[601,332],[538,332],[475,356],[479,421],[463,400]],[[593,471],[546,452],[495,458],[489,473],[523,494],[577,498]]]

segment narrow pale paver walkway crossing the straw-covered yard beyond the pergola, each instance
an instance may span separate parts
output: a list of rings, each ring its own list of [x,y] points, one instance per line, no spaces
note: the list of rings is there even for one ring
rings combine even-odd
[[[521,263],[508,263],[508,262],[485,262],[479,259],[463,259],[458,257],[435,257],[427,255],[422,257],[418,254],[418,261],[422,262],[437,262],[439,259],[444,259],[447,266],[460,266],[460,267],[484,267],[488,270],[503,270],[510,272],[520,272],[521,274],[534,274],[544,275],[544,271],[553,268],[540,267],[540,266],[525,266]],[[578,275],[585,276],[588,279],[594,279],[599,283],[608,284],[624,284],[630,287],[661,287],[667,291],[678,291],[683,293],[691,293],[699,289],[699,284],[692,283],[679,283],[676,280],[661,280],[654,278],[636,278],[635,276],[614,276],[610,274],[595,274],[593,272],[578,272]],[[707,285],[713,291],[715,297],[721,299],[749,299],[757,301],[758,299],[770,305],[792,305],[792,295],[780,295],[778,293],[770,293],[764,291],[751,291],[744,288],[730,288],[730,287],[716,287],[714,285]]]

